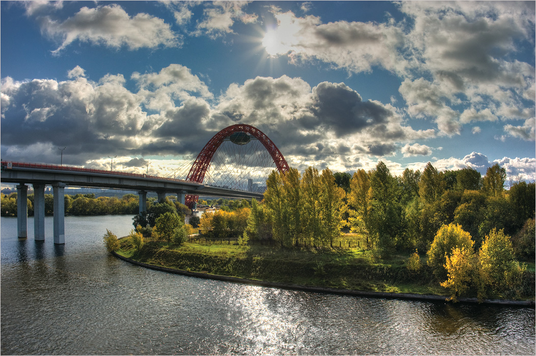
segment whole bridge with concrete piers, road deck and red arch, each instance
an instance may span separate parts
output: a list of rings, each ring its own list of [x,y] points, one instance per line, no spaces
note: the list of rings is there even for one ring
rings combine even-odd
[[[222,196],[227,198],[262,199],[263,193],[251,189],[243,189],[243,184],[233,179],[226,184],[203,184],[205,175],[210,175],[211,162],[218,160],[217,153],[222,143],[230,141],[236,146],[248,146],[252,141],[259,141],[264,147],[264,154],[271,157],[275,169],[288,171],[288,164],[273,142],[258,128],[237,124],[224,128],[205,145],[197,156],[186,179],[174,179],[158,176],[148,176],[120,171],[106,171],[80,168],[55,164],[27,163],[2,161],[0,180],[3,183],[17,184],[17,231],[19,238],[27,238],[28,234],[28,186],[32,184],[34,190],[34,239],[44,240],[44,188],[53,187],[54,196],[54,243],[65,243],[65,187],[91,187],[137,191],[139,195],[139,213],[147,210],[147,192],[155,192],[158,201],[165,199],[166,194],[176,194],[177,200],[195,207],[199,195]],[[269,155],[266,155],[268,153]],[[251,152],[239,153],[235,156],[251,156]],[[258,161],[258,159],[257,159]],[[227,162],[227,161],[226,161]],[[243,166],[244,162],[237,162]],[[256,163],[257,165],[259,163]],[[266,163],[263,163],[266,165]],[[228,169],[228,164],[225,165]],[[272,168],[273,169],[273,168]],[[234,170],[232,168],[232,170]],[[235,174],[236,176],[236,174]],[[249,177],[240,171],[238,176]],[[242,187],[242,188],[241,188]]]

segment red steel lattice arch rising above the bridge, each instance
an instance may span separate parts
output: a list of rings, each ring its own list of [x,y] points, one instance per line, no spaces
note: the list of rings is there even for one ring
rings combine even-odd
[[[257,127],[246,124],[236,124],[224,128],[215,134],[209,142],[207,142],[199,155],[197,155],[196,160],[193,162],[192,168],[190,168],[190,172],[188,173],[186,180],[203,183],[203,179],[205,178],[205,173],[209,168],[212,156],[214,156],[214,153],[220,147],[221,143],[235,132],[245,132],[258,139],[270,153],[270,156],[272,156],[277,170],[283,173],[288,172],[289,168],[285,157],[283,157],[279,149],[272,142],[272,140],[266,136],[266,134],[260,131]],[[185,204],[191,208],[193,202],[197,202],[198,198],[198,195],[188,194],[185,196]]]

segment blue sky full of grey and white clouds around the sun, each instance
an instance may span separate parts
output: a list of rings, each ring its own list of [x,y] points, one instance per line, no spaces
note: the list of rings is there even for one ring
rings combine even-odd
[[[0,3],[3,160],[165,175],[226,126],[300,170],[536,179],[534,2]]]

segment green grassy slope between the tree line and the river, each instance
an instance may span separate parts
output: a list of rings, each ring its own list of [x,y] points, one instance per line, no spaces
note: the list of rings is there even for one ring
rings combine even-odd
[[[447,295],[421,257],[422,267],[406,267],[409,255],[394,255],[374,261],[360,248],[285,249],[275,246],[202,245],[178,246],[163,241],[147,241],[134,251],[122,239],[117,253],[155,266],[262,281],[324,286],[360,291]],[[522,299],[534,299],[534,263],[526,281],[529,287]],[[532,288],[532,292],[530,289]],[[499,296],[501,297],[501,296]]]

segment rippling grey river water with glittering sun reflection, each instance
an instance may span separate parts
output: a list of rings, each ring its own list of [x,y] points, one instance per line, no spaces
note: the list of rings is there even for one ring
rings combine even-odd
[[[131,216],[66,217],[65,245],[0,220],[1,353],[516,354],[534,308],[278,290],[148,270],[106,252]]]

